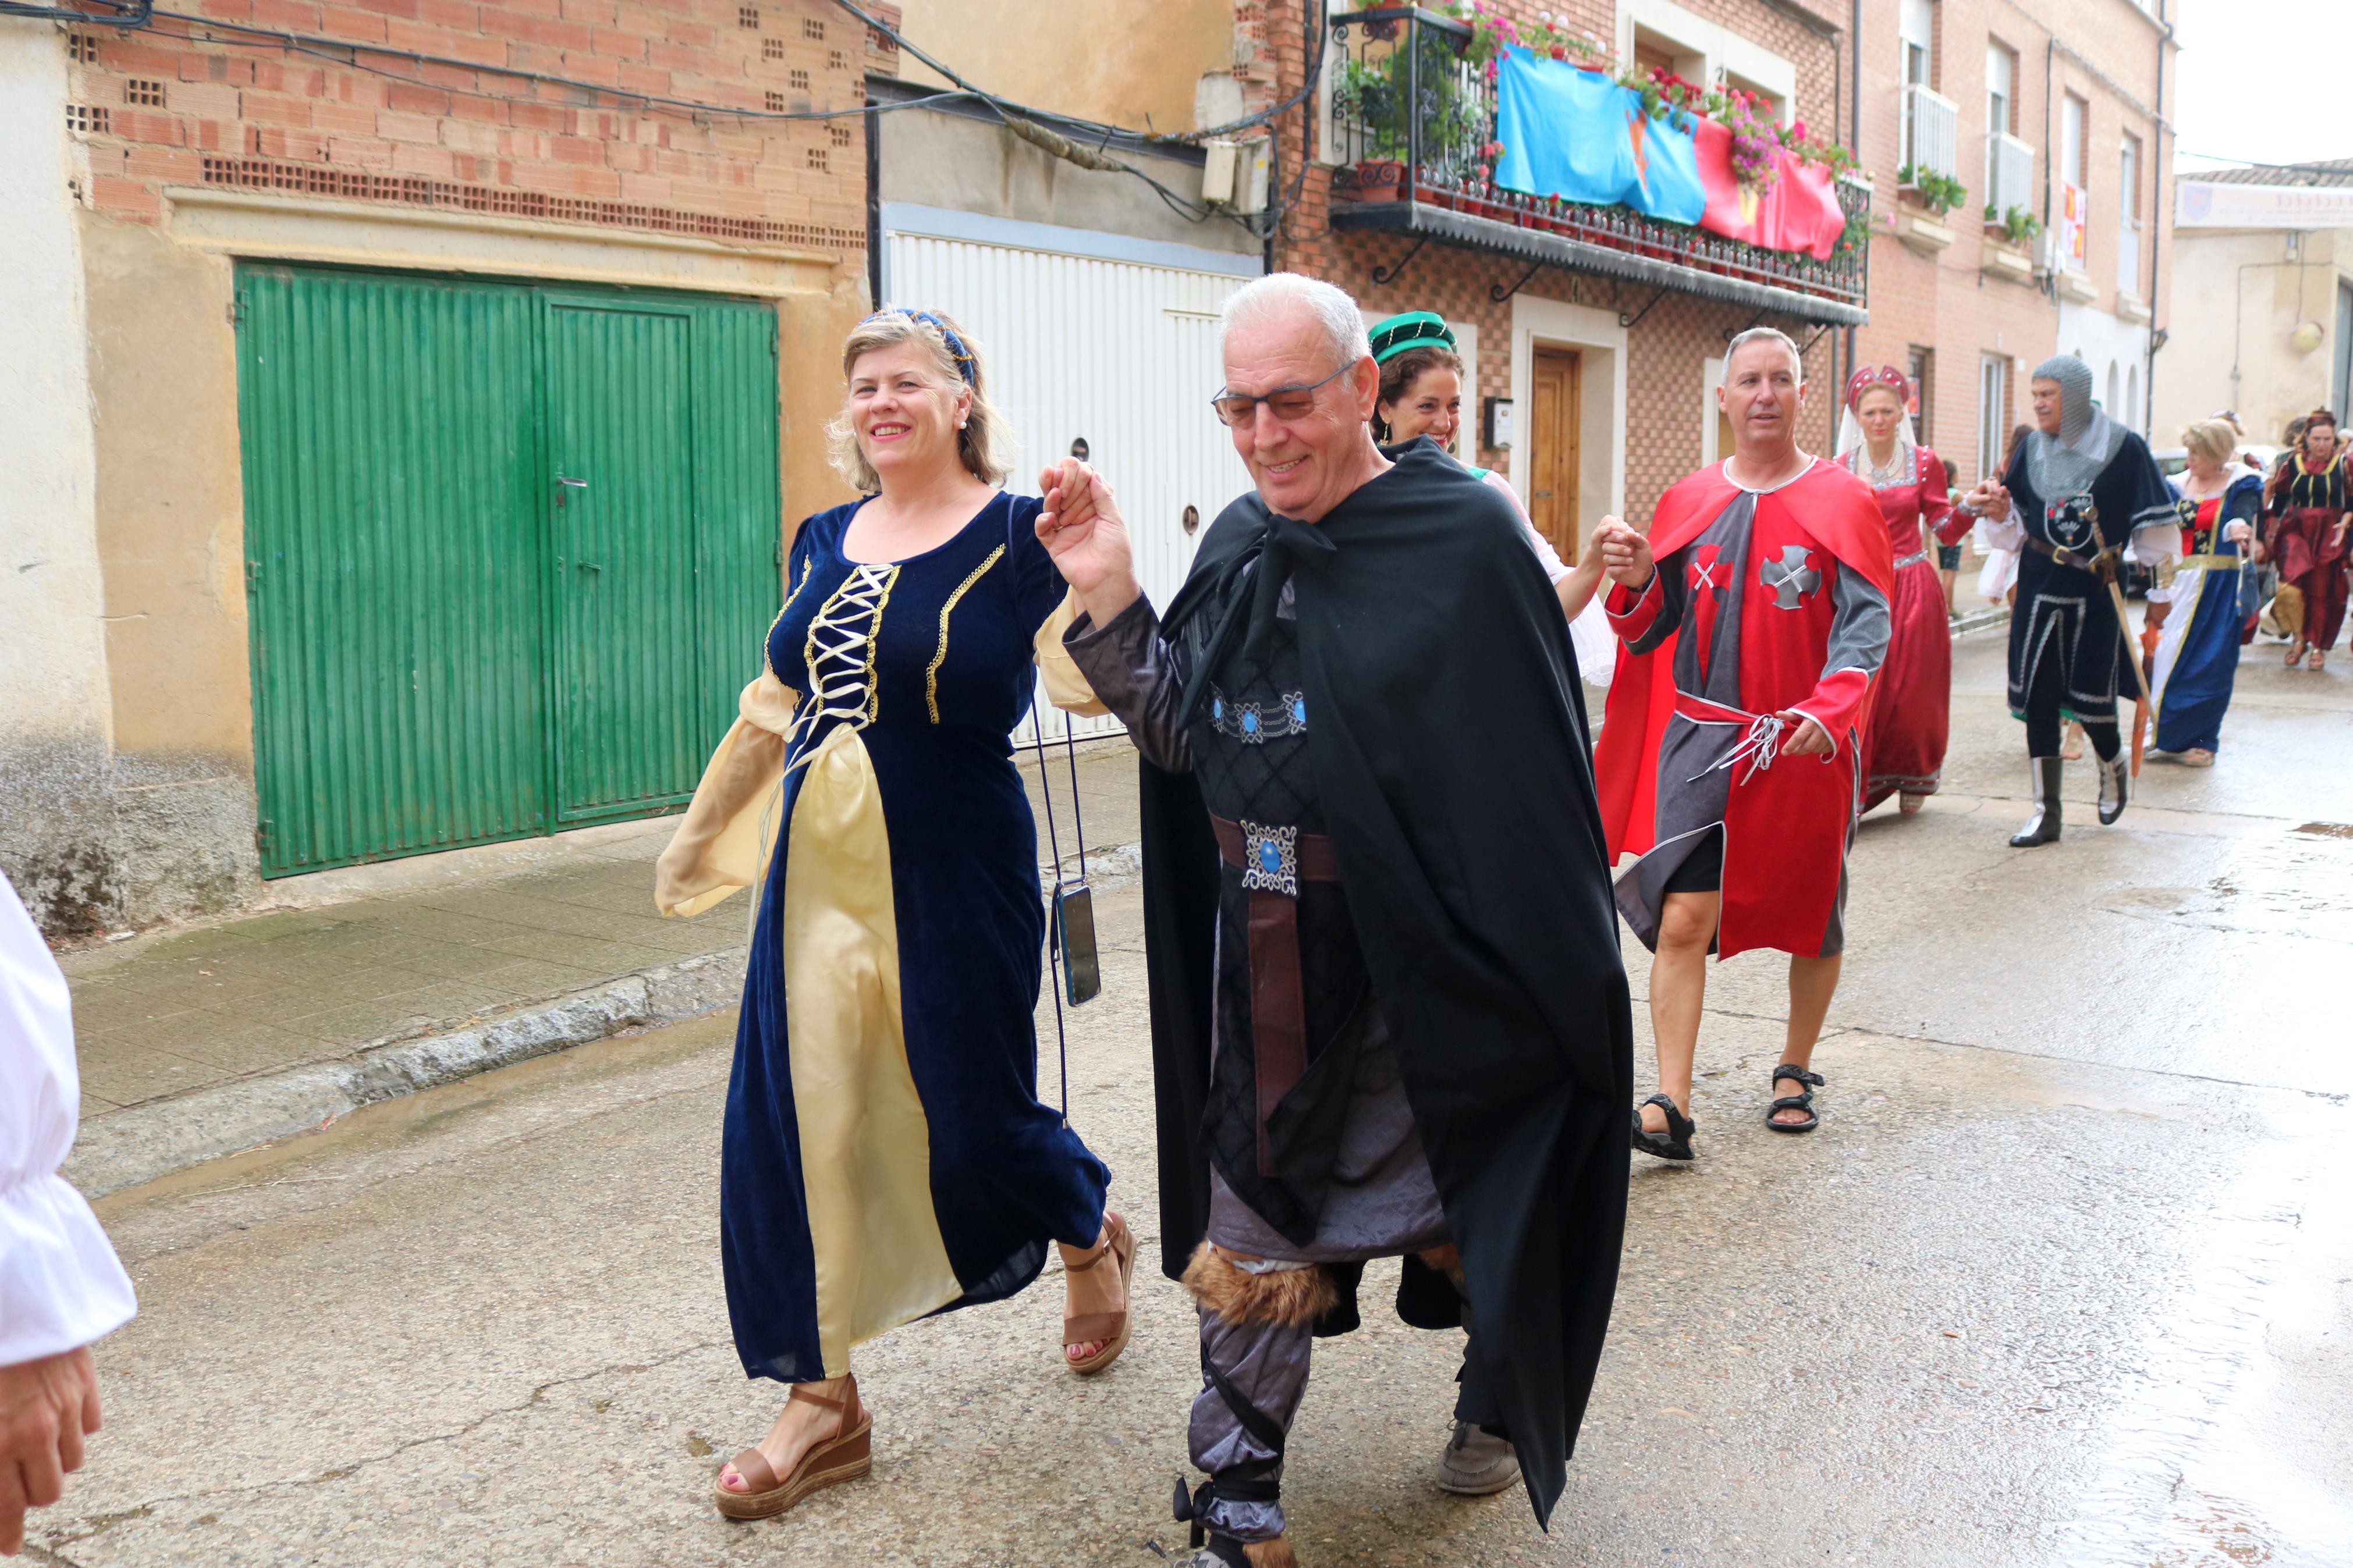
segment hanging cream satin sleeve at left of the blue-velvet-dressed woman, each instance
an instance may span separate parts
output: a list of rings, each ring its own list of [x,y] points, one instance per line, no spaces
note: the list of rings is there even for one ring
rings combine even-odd
[[[800,693],[762,670],[736,698],[736,722],[720,738],[671,846],[654,863],[654,907],[701,914],[736,889],[758,886],[776,851],[784,738]]]

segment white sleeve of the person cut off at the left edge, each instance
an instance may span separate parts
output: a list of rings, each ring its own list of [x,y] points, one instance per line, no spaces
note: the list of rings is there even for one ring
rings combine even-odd
[[[139,1309],[99,1215],[56,1173],[80,1107],[66,976],[0,877],[0,1366],[89,1345]]]

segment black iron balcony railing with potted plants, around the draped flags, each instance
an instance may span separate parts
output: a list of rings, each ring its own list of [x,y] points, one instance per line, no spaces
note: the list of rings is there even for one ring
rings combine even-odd
[[[1332,228],[1412,233],[1631,282],[1864,322],[1868,244],[1828,261],[1664,223],[1631,207],[1591,207],[1504,190],[1485,169],[1494,89],[1464,52],[1471,28],[1419,7],[1332,19]],[[1852,219],[1871,188],[1840,181]]]

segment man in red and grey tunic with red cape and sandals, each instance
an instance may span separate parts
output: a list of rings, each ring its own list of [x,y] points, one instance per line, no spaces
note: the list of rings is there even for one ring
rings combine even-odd
[[[1758,327],[1725,353],[1732,458],[1659,498],[1649,536],[1602,520],[1626,642],[1595,752],[1619,912],[1652,950],[1659,1086],[1633,1147],[1692,1157],[1708,952],[1788,952],[1788,1048],[1765,1124],[1819,1126],[1814,1037],[1838,990],[1864,729],[1887,656],[1894,552],[1852,473],[1798,449],[1805,367]]]

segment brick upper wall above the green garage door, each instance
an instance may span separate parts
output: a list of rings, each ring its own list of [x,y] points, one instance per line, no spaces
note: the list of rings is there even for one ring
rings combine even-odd
[[[854,108],[896,59],[824,0],[198,9],[212,21],[75,31],[89,207],[153,223],[165,186],[214,183],[864,249],[861,120],[758,118]]]

